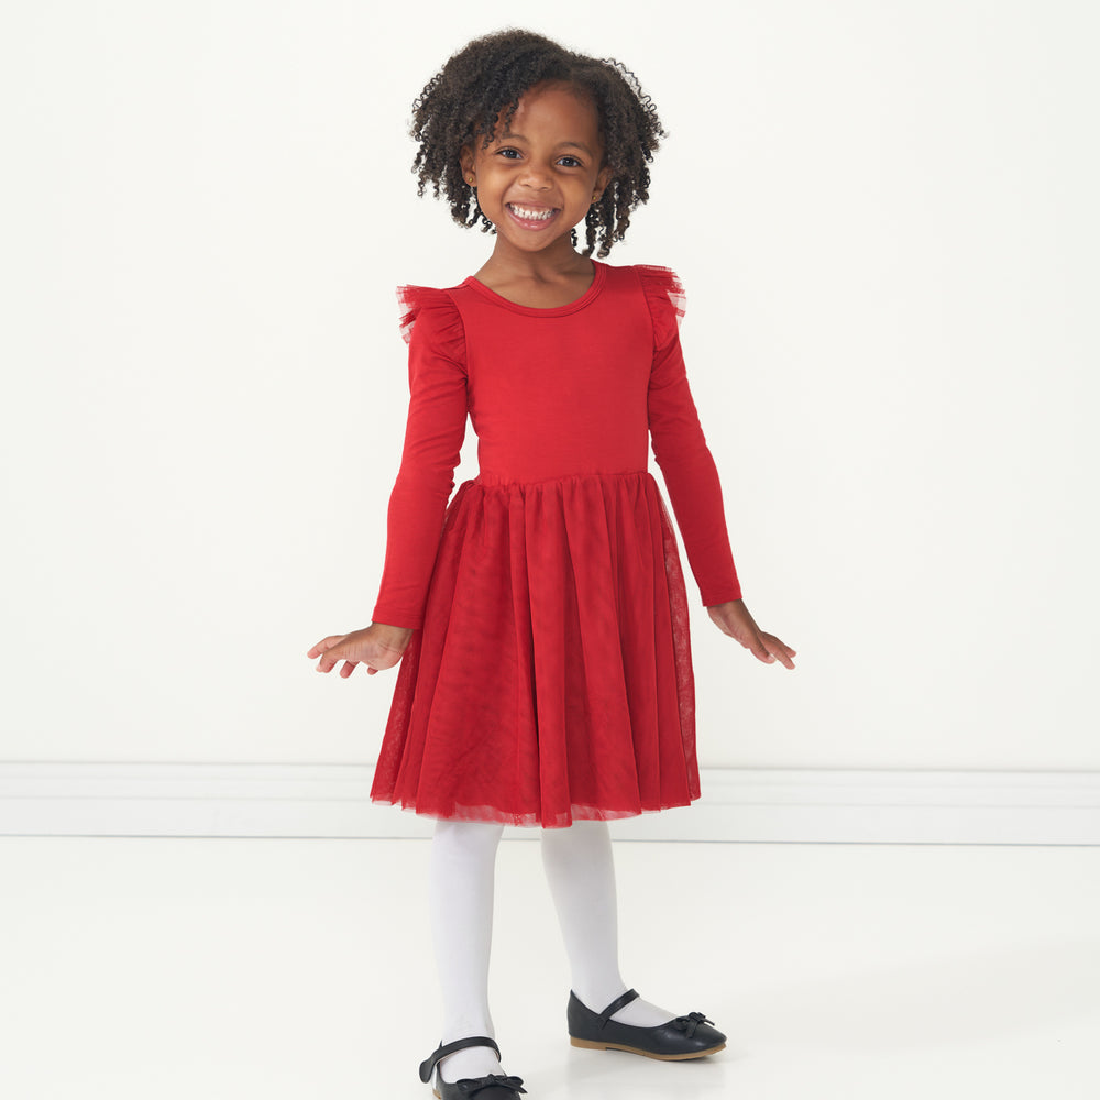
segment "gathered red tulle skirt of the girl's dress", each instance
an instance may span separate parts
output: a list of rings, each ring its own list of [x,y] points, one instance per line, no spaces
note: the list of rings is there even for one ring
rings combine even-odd
[[[372,799],[554,828],[698,793],[688,597],[652,475],[464,482]]]

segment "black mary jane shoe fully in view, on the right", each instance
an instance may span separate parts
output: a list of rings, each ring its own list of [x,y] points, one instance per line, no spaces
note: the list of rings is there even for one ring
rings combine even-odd
[[[712,1021],[702,1012],[676,1016],[656,1027],[635,1027],[620,1024],[612,1016],[625,1004],[637,1000],[638,993],[628,989],[617,997],[603,1012],[593,1012],[576,993],[569,994],[569,1041],[573,1046],[590,1050],[628,1050],[660,1062],[686,1062],[702,1058],[725,1049],[726,1036],[712,1027]]]

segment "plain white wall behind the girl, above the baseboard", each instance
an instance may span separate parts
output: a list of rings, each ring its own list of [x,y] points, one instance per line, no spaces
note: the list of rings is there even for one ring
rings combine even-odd
[[[373,760],[392,676],[304,654],[374,603],[393,287],[491,248],[416,198],[405,132],[516,18],[477,10],[0,16],[0,759]],[[562,0],[536,28],[631,65],[671,132],[610,258],[685,280],[746,600],[801,653],[759,666],[700,609],[705,766],[1100,768],[1098,22]]]

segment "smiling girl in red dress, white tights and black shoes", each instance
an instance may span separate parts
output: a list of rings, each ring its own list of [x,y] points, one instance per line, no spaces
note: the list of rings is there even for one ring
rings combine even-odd
[[[664,136],[634,74],[488,35],[428,82],[413,134],[420,194],[495,242],[459,286],[399,292],[411,397],[378,601],[371,626],[309,656],[342,676],[400,662],[372,798],[437,820],[443,1030],[420,1077],[442,1100],[514,1100],[526,1090],[504,1075],[487,1003],[506,824],[543,831],[573,1045],[670,1060],[725,1045],[618,970],[606,822],[698,796],[686,592],[650,436],[711,618],[766,663],[791,669],[794,650],[740,598],[676,277],[588,258],[648,199]],[[448,505],[468,415],[480,472]]]

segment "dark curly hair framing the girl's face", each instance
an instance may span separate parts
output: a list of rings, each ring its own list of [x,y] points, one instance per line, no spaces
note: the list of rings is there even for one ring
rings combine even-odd
[[[638,78],[620,62],[572,53],[531,31],[499,31],[474,38],[454,54],[428,81],[413,105],[411,134],[419,143],[413,162],[417,193],[430,184],[450,202],[460,226],[493,223],[477,205],[477,195],[459,163],[463,146],[482,139],[487,147],[497,120],[512,120],[519,99],[544,80],[563,81],[592,98],[600,120],[604,165],[612,179],[585,216],[584,255],[606,256],[622,241],[630,212],[649,199],[649,168],[660,139],[667,136],[652,100]],[[578,243],[573,230],[573,244]]]

